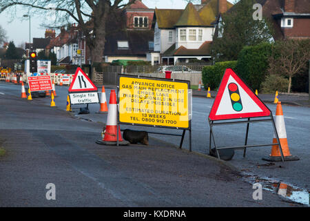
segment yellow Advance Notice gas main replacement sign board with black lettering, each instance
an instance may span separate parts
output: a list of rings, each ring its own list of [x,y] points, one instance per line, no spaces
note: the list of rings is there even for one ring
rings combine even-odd
[[[189,128],[188,85],[120,77],[119,122]]]

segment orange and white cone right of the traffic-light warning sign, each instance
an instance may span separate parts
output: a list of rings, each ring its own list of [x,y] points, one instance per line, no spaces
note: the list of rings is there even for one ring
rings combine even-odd
[[[281,102],[278,102],[277,104],[275,124],[276,124],[276,130],[278,132],[278,137],[280,140],[284,160],[285,161],[299,160],[298,157],[293,156],[291,155],[291,153],[289,153],[289,145],[287,144],[287,131],[285,130],[285,120],[283,116]],[[276,145],[272,146],[271,155],[269,155],[268,157],[263,157],[262,160],[282,161],[280,148],[277,143],[278,142],[277,142],[276,135],[273,134],[273,144],[276,144]]]

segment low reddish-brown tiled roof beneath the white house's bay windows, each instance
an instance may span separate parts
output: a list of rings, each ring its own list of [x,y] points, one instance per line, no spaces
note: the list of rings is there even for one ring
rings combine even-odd
[[[184,46],[180,46],[176,49],[176,44],[173,44],[165,52],[163,56],[205,56],[210,55],[211,41],[205,41],[198,49],[187,49]]]

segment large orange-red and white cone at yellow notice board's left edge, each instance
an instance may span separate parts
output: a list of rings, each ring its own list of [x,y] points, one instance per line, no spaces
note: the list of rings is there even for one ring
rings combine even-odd
[[[117,115],[116,93],[115,93],[115,90],[111,90],[109,111],[107,113],[107,124],[105,124],[105,135],[103,137],[103,140],[96,141],[97,144],[116,145],[117,136],[118,136],[119,145],[129,144],[129,142],[123,140],[122,138],[121,128],[117,126],[116,115]]]

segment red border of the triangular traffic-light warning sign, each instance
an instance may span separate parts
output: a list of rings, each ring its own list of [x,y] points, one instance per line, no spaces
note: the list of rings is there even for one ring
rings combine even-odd
[[[223,94],[225,88],[227,87],[227,83],[229,77],[233,77],[240,87],[245,90],[245,93],[249,95],[249,97],[262,109],[262,112],[254,112],[254,113],[234,113],[234,114],[225,114],[225,115],[216,115],[218,111],[218,106],[223,98]],[[216,99],[214,100],[214,104],[211,107],[211,111],[209,113],[210,120],[223,120],[223,119],[242,119],[248,117],[267,117],[271,115],[271,111],[267,106],[259,99],[259,97],[245,84],[240,77],[232,70],[231,68],[227,68],[225,70],[225,74],[223,75],[223,79],[220,82],[220,87],[218,88],[218,93],[216,95]]]

